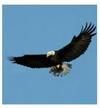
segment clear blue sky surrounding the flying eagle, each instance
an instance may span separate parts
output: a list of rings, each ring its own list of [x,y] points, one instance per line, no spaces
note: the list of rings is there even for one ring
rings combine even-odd
[[[3,103],[96,104],[96,36],[71,62],[72,70],[54,77],[49,69],[12,64],[8,57],[41,54],[68,44],[82,25],[96,25],[96,6],[3,6]]]

